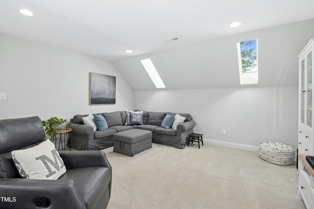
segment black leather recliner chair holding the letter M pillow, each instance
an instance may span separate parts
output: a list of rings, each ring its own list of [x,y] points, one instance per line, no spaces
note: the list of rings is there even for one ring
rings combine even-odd
[[[59,151],[66,173],[57,180],[22,179],[11,151],[45,139],[38,116],[0,120],[1,209],[105,209],[112,169],[102,151]]]

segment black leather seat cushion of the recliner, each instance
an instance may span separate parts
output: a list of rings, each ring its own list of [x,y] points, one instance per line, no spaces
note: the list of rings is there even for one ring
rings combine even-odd
[[[97,208],[110,182],[110,170],[107,167],[82,167],[67,170],[59,180],[74,181],[80,197],[87,209]]]

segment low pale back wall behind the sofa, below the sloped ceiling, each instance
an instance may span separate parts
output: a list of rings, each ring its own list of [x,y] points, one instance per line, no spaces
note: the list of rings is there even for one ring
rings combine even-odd
[[[251,146],[280,141],[298,147],[297,86],[135,91],[134,108],[189,113],[196,121],[195,133],[205,139]]]

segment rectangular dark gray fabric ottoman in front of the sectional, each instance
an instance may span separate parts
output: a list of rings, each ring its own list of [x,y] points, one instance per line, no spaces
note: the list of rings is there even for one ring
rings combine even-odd
[[[113,135],[113,152],[130,157],[146,149],[152,148],[152,132],[131,129]]]

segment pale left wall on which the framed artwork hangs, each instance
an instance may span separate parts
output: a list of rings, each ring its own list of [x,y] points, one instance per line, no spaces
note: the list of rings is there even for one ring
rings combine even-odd
[[[133,108],[133,91],[107,61],[0,33],[0,119]],[[89,72],[116,76],[116,104],[89,105]]]

